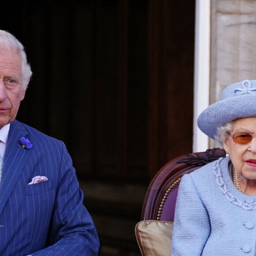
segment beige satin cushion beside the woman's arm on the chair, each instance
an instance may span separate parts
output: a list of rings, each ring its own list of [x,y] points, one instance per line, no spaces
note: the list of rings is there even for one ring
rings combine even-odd
[[[136,238],[143,256],[170,256],[173,222],[147,220],[135,227]]]

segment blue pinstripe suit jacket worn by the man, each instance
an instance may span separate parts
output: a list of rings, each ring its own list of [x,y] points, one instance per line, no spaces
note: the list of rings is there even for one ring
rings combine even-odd
[[[21,147],[21,137],[33,147]],[[27,185],[38,175],[49,180]],[[64,143],[14,120],[0,184],[0,255],[93,256],[98,247]]]

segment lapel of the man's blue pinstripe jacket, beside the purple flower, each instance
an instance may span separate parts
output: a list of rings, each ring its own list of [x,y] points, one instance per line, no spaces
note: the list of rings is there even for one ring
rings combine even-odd
[[[19,142],[20,138],[27,135],[28,132],[21,123],[16,120],[11,123],[0,184],[0,213],[3,211],[4,205],[15,187],[30,155],[31,149],[24,149]]]

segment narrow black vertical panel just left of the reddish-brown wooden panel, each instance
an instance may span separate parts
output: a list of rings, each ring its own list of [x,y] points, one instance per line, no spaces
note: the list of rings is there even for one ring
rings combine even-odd
[[[147,0],[129,0],[127,168],[128,177],[138,182],[148,177],[147,7]]]

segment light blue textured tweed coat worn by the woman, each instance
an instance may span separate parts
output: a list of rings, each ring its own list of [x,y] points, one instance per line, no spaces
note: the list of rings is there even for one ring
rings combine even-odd
[[[172,256],[254,256],[256,196],[233,185],[230,158],[184,175],[178,191]]]

